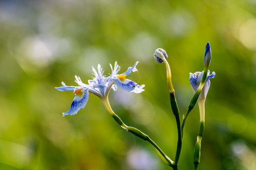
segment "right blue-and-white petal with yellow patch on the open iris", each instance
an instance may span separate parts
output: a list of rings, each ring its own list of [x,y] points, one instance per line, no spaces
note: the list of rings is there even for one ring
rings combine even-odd
[[[119,75],[116,78],[113,78],[115,84],[122,90],[127,92],[140,93],[143,92],[145,85],[138,85],[134,81],[125,78],[126,75]]]

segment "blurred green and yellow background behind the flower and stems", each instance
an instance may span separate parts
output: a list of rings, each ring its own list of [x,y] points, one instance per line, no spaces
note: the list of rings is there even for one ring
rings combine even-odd
[[[62,117],[72,92],[54,87],[91,79],[115,61],[145,92],[110,91],[112,109],[174,159],[177,132],[164,64],[168,54],[181,114],[193,95],[189,73],[203,70],[210,42],[200,170],[256,170],[255,0],[0,0],[0,170],[170,170],[149,143],[127,133],[90,94]],[[193,167],[199,110],[184,132],[180,170]]]

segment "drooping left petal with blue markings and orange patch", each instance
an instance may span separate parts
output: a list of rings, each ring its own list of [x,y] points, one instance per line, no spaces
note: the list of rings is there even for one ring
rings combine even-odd
[[[77,114],[80,109],[84,108],[89,99],[88,90],[89,88],[80,88],[74,91],[75,96],[71,107],[67,112],[63,113],[63,116]]]

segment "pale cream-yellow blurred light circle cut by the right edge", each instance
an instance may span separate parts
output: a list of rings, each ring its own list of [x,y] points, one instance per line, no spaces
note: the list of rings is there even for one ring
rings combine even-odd
[[[250,50],[256,50],[256,19],[248,19],[239,28],[239,40]]]

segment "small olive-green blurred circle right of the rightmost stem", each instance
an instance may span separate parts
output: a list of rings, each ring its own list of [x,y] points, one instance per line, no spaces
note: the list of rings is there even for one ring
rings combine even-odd
[[[229,130],[233,133],[242,133],[247,127],[247,120],[239,114],[234,114],[229,118]]]

